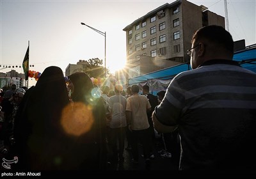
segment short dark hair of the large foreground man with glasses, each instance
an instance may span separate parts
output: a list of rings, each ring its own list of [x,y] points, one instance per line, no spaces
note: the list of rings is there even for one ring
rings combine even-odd
[[[191,43],[193,43],[194,40],[195,42],[198,42],[204,38],[211,41],[212,43],[221,45],[230,53],[234,53],[234,41],[232,36],[223,27],[216,25],[202,27],[195,32]]]

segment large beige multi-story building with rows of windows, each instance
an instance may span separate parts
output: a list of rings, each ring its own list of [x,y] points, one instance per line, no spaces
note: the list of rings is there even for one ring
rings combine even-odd
[[[225,19],[186,0],[166,3],[132,22],[126,31],[128,78],[189,61],[191,38],[203,26]]]

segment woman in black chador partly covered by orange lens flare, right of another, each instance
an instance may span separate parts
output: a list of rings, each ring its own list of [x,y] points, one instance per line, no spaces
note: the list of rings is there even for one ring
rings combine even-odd
[[[68,87],[72,91],[72,120],[74,130],[66,125],[68,134],[76,137],[77,149],[81,153],[79,169],[106,169],[106,111],[100,98],[99,88],[93,88],[90,77],[83,72],[69,76]],[[68,119],[68,117],[67,117]],[[79,157],[79,155],[77,155]]]

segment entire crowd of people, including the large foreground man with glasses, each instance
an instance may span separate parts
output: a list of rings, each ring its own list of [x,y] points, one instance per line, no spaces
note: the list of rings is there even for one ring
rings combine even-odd
[[[15,169],[78,171],[124,162],[124,150],[136,165],[142,147],[150,167],[158,132],[158,153],[174,154],[181,171],[253,171],[256,74],[232,61],[234,41],[223,27],[202,27],[191,43],[193,70],[156,96],[147,84],[99,88],[83,72],[65,81],[58,66],[29,89],[1,91],[1,152],[19,157]]]

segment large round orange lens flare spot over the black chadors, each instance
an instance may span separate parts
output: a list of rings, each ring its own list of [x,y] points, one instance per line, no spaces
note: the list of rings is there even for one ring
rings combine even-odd
[[[72,136],[81,136],[92,128],[92,107],[82,102],[68,104],[62,111],[61,126]]]

